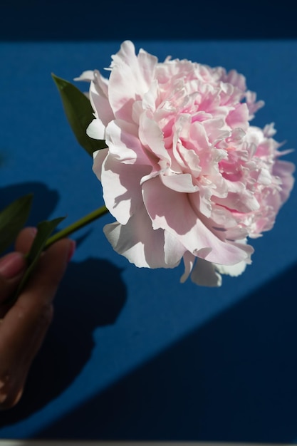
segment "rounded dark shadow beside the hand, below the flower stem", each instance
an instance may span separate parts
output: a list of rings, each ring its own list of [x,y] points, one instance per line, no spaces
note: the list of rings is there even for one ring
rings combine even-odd
[[[80,373],[93,349],[93,331],[115,323],[126,301],[121,270],[110,262],[72,262],[55,299],[55,316],[38,353],[21,401],[1,415],[0,426],[42,408]],[[46,383],[46,385],[44,385]]]

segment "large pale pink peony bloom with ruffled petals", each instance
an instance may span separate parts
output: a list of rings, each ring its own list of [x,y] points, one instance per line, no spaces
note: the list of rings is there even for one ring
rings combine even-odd
[[[136,266],[174,268],[204,286],[251,263],[247,237],[273,227],[293,187],[273,124],[250,125],[264,105],[244,76],[155,56],[125,41],[109,79],[85,71],[95,119],[93,171],[116,222],[104,232]]]

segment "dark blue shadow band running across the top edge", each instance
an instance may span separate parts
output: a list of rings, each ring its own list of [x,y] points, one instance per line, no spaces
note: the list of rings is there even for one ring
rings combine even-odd
[[[296,38],[296,4],[283,0],[180,2],[2,0],[0,39]]]

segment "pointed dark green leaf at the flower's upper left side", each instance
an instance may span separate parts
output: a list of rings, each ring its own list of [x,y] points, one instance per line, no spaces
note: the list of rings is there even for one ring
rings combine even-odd
[[[91,156],[95,150],[107,147],[104,140],[94,140],[86,133],[88,125],[94,119],[90,100],[88,100],[88,98],[72,83],[65,81],[65,79],[58,78],[58,76],[55,76],[53,73],[51,76],[61,95],[66,117],[78,143]]]

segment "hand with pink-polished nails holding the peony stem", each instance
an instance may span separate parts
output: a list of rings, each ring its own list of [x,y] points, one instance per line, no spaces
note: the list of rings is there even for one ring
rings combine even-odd
[[[8,304],[26,271],[24,254],[36,234],[25,228],[15,251],[0,259],[0,409],[19,402],[31,363],[53,318],[53,298],[66,272],[75,242],[62,239],[42,254],[28,284],[13,306]]]

